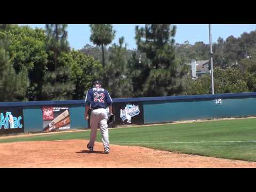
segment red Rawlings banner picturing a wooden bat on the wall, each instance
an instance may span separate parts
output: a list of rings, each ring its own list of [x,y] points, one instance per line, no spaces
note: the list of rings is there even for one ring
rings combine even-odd
[[[69,107],[43,107],[43,131],[70,129]]]

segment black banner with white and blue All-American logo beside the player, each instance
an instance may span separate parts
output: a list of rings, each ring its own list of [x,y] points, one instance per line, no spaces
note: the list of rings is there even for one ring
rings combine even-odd
[[[113,112],[116,116],[116,125],[144,124],[143,105],[141,102],[115,102]]]

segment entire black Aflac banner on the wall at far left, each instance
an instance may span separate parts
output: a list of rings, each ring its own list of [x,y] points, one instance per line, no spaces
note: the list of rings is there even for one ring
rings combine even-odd
[[[0,135],[11,133],[24,133],[22,108],[0,108]]]

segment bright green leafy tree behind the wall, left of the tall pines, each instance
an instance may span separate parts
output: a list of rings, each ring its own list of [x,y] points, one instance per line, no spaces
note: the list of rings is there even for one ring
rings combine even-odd
[[[7,32],[9,37],[10,63],[16,73],[28,71],[30,86],[27,90],[29,100],[41,100],[43,76],[46,71],[47,53],[43,29],[28,26],[13,26]]]

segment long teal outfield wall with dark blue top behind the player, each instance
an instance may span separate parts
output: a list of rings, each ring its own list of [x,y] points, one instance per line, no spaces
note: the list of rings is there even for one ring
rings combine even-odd
[[[256,116],[256,92],[214,95],[186,95],[168,97],[113,99],[116,125],[149,124],[192,119]],[[84,119],[84,100],[0,102],[0,110],[19,109],[23,111],[24,132],[43,130],[43,106],[69,107],[70,128],[88,128]],[[127,122],[125,110],[130,113]],[[121,113],[121,110],[122,113]],[[1,112],[5,113],[5,112]],[[121,117],[122,114],[122,117]],[[1,115],[1,130],[4,130]],[[128,117],[127,117],[128,118]],[[6,120],[7,122],[7,120]],[[8,129],[5,129],[8,130]],[[1,134],[1,132],[0,132]]]

